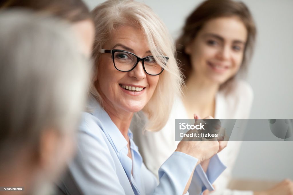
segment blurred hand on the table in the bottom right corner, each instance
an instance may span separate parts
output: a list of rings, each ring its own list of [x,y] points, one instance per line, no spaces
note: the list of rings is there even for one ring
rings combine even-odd
[[[293,182],[290,179],[285,179],[279,184],[275,185],[269,190],[255,191],[254,195],[292,195],[293,194]]]

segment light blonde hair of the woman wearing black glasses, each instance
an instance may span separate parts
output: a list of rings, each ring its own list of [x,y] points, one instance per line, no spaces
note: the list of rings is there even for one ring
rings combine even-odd
[[[142,30],[154,56],[168,56],[169,60],[159,77],[153,96],[143,108],[148,116],[145,129],[158,131],[166,124],[174,97],[181,95],[182,76],[177,66],[175,45],[168,30],[151,8],[143,3],[131,0],[109,0],[98,5],[93,11],[96,35],[93,49],[95,74],[99,65],[100,49],[111,39],[111,33],[120,26],[134,26]],[[103,48],[104,49],[104,48]],[[95,86],[91,94],[102,104]]]

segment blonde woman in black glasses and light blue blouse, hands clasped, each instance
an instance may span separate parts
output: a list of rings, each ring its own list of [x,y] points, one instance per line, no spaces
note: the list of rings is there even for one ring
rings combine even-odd
[[[185,194],[195,167],[221,148],[218,141],[182,141],[159,170],[159,182],[145,167],[129,130],[143,110],[150,131],[168,120],[182,79],[175,47],[158,16],[145,4],[110,0],[92,11],[96,26],[94,79],[88,112],[79,126],[78,154],[59,184],[65,194]],[[224,169],[205,175],[199,194]]]

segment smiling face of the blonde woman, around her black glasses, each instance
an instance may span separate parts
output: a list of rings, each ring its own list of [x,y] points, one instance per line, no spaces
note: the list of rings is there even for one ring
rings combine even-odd
[[[103,49],[121,49],[141,58],[152,55],[142,30],[131,26],[117,28]],[[142,110],[156,89],[159,75],[151,76],[145,73],[141,61],[130,72],[118,71],[114,67],[112,54],[109,53],[101,54],[98,63],[95,87],[104,105],[110,105],[111,109],[116,111]]]

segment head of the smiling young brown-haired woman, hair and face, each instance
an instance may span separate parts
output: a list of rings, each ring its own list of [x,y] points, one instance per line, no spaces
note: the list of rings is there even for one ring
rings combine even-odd
[[[197,76],[223,88],[247,68],[255,36],[255,23],[245,4],[204,1],[188,16],[176,42],[186,80]]]

